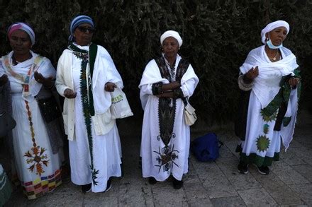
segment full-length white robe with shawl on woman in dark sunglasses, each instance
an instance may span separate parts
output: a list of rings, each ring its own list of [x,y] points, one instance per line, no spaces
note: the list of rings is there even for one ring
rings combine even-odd
[[[76,46],[79,47],[79,49],[89,50],[89,47],[87,46]],[[64,57],[67,57],[67,59]],[[72,60],[69,64],[60,62],[68,61],[68,59]],[[101,62],[106,64],[101,64]],[[60,71],[57,71],[58,80],[56,81],[56,84],[60,95],[64,95],[64,90],[71,87],[77,93],[77,96],[74,99],[65,99],[67,102],[73,101],[74,108],[70,108],[70,105],[64,105],[64,107],[66,107],[64,111],[74,112],[74,122],[72,126],[68,126],[70,129],[74,129],[74,138],[69,139],[69,160],[72,182],[78,185],[92,183],[91,190],[93,192],[101,192],[106,190],[106,183],[110,177],[121,177],[121,142],[115,120],[111,120],[109,112],[111,98],[109,93],[104,90],[104,85],[108,81],[122,85],[122,81],[106,49],[98,46],[96,64],[94,64],[94,73],[92,77],[92,91],[93,93],[96,93],[93,94],[94,110],[96,114],[105,114],[105,117],[109,119],[109,122],[107,123],[113,124],[106,130],[105,134],[98,134],[95,131],[96,124],[100,124],[101,122],[94,122],[94,119],[91,119],[93,150],[90,152],[80,88],[81,63],[81,59],[75,57],[69,49],[65,49],[62,57],[60,57],[58,66],[67,65],[69,68],[57,68],[57,70],[60,69]],[[89,64],[87,65],[87,69],[89,69]],[[71,78],[63,79],[63,73],[72,74]],[[69,87],[71,84],[73,86]],[[96,86],[94,86],[95,84]],[[70,124],[71,122],[68,123]],[[107,126],[101,126],[100,128],[105,127],[107,128]],[[95,179],[97,182],[96,184],[92,182],[92,173],[90,170],[91,155],[93,156],[94,170],[99,170]]]

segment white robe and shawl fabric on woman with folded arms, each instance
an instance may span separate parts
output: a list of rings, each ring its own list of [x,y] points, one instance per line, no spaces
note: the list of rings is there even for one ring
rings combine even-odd
[[[177,57],[175,70],[179,64],[181,57]],[[143,77],[141,79],[140,100],[144,110],[142,141],[140,156],[142,158],[143,177],[154,177],[157,181],[164,181],[172,174],[175,179],[182,180],[183,174],[188,172],[189,158],[189,143],[190,131],[189,126],[184,122],[184,103],[182,99],[177,99],[176,114],[174,119],[173,134],[174,137],[168,143],[172,151],[171,160],[167,163],[169,169],[166,170],[165,165],[162,165],[159,160],[160,154],[163,155],[165,144],[160,136],[160,126],[158,119],[158,100],[159,98],[152,95],[153,83],[169,83],[165,78],[162,78],[160,70],[155,60],[150,61],[145,67]],[[193,95],[196,85],[199,83],[199,78],[196,76],[191,64],[181,80],[181,89],[184,97]]]

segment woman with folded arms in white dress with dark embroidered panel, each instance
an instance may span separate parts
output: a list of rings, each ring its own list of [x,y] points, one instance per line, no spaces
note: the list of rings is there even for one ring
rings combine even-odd
[[[150,184],[173,177],[174,189],[183,185],[188,172],[189,126],[184,104],[199,83],[193,67],[179,56],[179,33],[168,30],[160,37],[162,56],[152,59],[139,85],[144,110],[140,155],[143,177]]]

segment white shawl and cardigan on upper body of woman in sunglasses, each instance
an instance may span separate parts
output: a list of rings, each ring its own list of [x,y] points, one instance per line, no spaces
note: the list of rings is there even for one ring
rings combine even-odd
[[[81,47],[80,49],[89,50],[89,47]],[[104,47],[97,46],[98,51],[94,62],[94,71],[92,76],[92,93],[94,100],[94,122],[96,135],[104,135],[113,128],[115,120],[111,119],[109,107],[111,106],[111,95],[104,90],[104,85],[108,82],[116,83],[123,88],[123,81],[118,73],[113,59]],[[65,49],[57,63],[57,79],[55,86],[57,92],[64,96],[64,91],[69,88],[74,90],[74,81],[72,79],[72,61],[74,54],[71,50]],[[89,71],[89,64],[87,65]],[[65,98],[63,119],[65,125],[65,133],[69,140],[74,140],[74,98]]]

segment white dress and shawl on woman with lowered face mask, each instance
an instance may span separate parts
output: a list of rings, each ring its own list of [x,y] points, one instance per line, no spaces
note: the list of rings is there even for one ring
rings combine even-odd
[[[291,90],[286,112],[287,117],[291,117],[288,126],[281,127],[281,131],[274,131],[276,116],[272,115],[269,121],[264,120],[261,110],[269,105],[275,95],[279,92],[279,82],[282,76],[294,75],[294,70],[298,67],[296,57],[289,49],[282,47],[282,60],[271,62],[264,51],[264,45],[252,49],[240,71],[245,74],[252,67],[259,67],[259,76],[255,78],[255,84],[252,86],[250,93],[247,126],[245,141],[243,141],[243,153],[246,156],[252,154],[261,158],[274,158],[279,155],[281,148],[281,137],[285,148],[289,147],[294,134],[296,123],[296,112],[298,110],[297,89]],[[264,128],[265,130],[264,132]],[[259,162],[261,163],[261,162]]]

